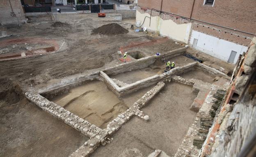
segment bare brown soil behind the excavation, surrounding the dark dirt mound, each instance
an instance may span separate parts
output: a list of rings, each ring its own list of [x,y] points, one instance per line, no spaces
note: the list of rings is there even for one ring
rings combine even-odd
[[[53,27],[53,20],[69,24],[70,27]],[[9,77],[27,88],[30,84],[42,88],[46,84],[63,77],[77,73],[89,73],[96,69],[103,69],[111,65],[119,64],[117,51],[120,46],[127,46],[130,43],[150,42],[155,38],[145,33],[135,33],[128,30],[127,34],[114,36],[90,35],[95,28],[108,23],[119,23],[128,29],[130,24],[114,21],[111,17],[98,18],[97,14],[57,14],[51,18],[44,15],[39,18],[30,18],[30,23],[5,29],[12,36],[0,38],[0,42],[7,39],[44,38],[50,40],[63,40],[66,49],[57,53],[27,57],[19,60],[1,61],[1,77]],[[31,31],[33,30],[33,31]],[[153,48],[153,47],[154,48]],[[160,49],[166,51],[174,50],[177,47],[173,40],[166,40],[163,43],[155,43],[152,46],[139,46],[139,51],[155,54]],[[30,75],[31,74],[31,75]]]

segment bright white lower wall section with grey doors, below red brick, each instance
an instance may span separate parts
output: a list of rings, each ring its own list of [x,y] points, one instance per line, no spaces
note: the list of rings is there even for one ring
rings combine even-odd
[[[237,54],[235,56],[235,60],[233,64],[235,64],[238,60],[238,57],[243,52],[246,52],[248,47],[242,46],[239,44],[235,44],[233,42],[229,42],[226,40],[222,40],[198,31],[192,31],[192,35],[190,38],[190,45],[193,45],[194,39],[197,39],[197,46],[195,49],[207,53],[213,57],[216,57],[220,60],[228,61],[231,51],[236,51]]]

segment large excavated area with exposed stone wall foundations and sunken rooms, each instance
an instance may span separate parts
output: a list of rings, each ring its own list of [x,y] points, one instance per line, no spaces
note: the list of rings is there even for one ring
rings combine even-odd
[[[197,142],[193,146],[192,139],[201,118],[198,113],[210,114],[207,110],[209,103],[214,102],[212,95],[228,82],[224,73],[183,56],[184,51],[178,49],[165,54],[166,60],[176,60],[177,65],[166,73],[162,71],[165,69],[163,55],[154,55],[73,76],[38,94],[27,92],[25,96],[90,138],[70,157],[83,152],[92,157],[119,157],[135,152],[143,157],[154,149],[174,156],[184,147],[199,147]],[[194,77],[191,72],[206,79]],[[189,75],[181,77],[187,73]],[[209,79],[215,79],[210,82],[213,84],[207,82]],[[217,107],[213,110],[216,112]],[[111,155],[106,153],[109,149],[116,150],[120,140],[129,143],[123,143],[119,151]],[[92,151],[99,144],[103,146]]]

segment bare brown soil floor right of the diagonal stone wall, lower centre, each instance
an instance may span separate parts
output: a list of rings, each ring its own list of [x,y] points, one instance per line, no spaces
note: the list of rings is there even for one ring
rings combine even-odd
[[[155,149],[174,155],[196,117],[189,109],[195,97],[190,86],[167,84],[142,108],[150,117],[148,122],[133,117],[114,134],[113,142],[99,147],[91,157],[147,157]],[[123,155],[126,152],[135,153]]]

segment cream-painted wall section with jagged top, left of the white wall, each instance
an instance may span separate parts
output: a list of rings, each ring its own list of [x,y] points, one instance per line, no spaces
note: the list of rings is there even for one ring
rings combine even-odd
[[[150,17],[150,14],[136,11],[136,22],[140,21],[140,25],[142,25],[146,16]],[[188,43],[191,23],[176,24],[173,20],[163,20],[160,16],[152,16],[150,26],[149,21],[150,18],[146,18],[142,27],[146,27],[152,31],[159,31],[160,35]]]

